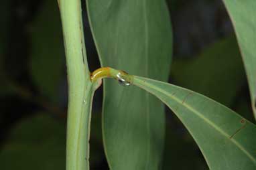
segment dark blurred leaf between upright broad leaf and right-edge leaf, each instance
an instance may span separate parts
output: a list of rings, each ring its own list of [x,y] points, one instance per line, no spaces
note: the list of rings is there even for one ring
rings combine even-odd
[[[199,56],[174,60],[172,77],[178,86],[189,88],[231,106],[245,83],[243,62],[235,37],[217,41]]]

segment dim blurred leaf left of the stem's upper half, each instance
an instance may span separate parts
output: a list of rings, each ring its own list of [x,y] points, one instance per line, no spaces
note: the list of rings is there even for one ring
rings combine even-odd
[[[64,48],[57,1],[43,1],[31,24],[30,74],[40,92],[56,101],[64,68]]]

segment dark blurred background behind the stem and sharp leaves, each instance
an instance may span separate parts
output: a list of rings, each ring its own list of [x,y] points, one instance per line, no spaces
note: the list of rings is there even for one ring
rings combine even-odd
[[[99,68],[83,3],[90,70]],[[253,122],[249,90],[229,15],[220,0],[168,0],[174,32],[170,82],[225,104]],[[67,81],[57,1],[2,0],[0,166],[65,169]],[[232,62],[231,62],[232,61]],[[91,169],[109,169],[101,137],[102,89],[92,110]],[[208,169],[166,108],[163,169]]]

